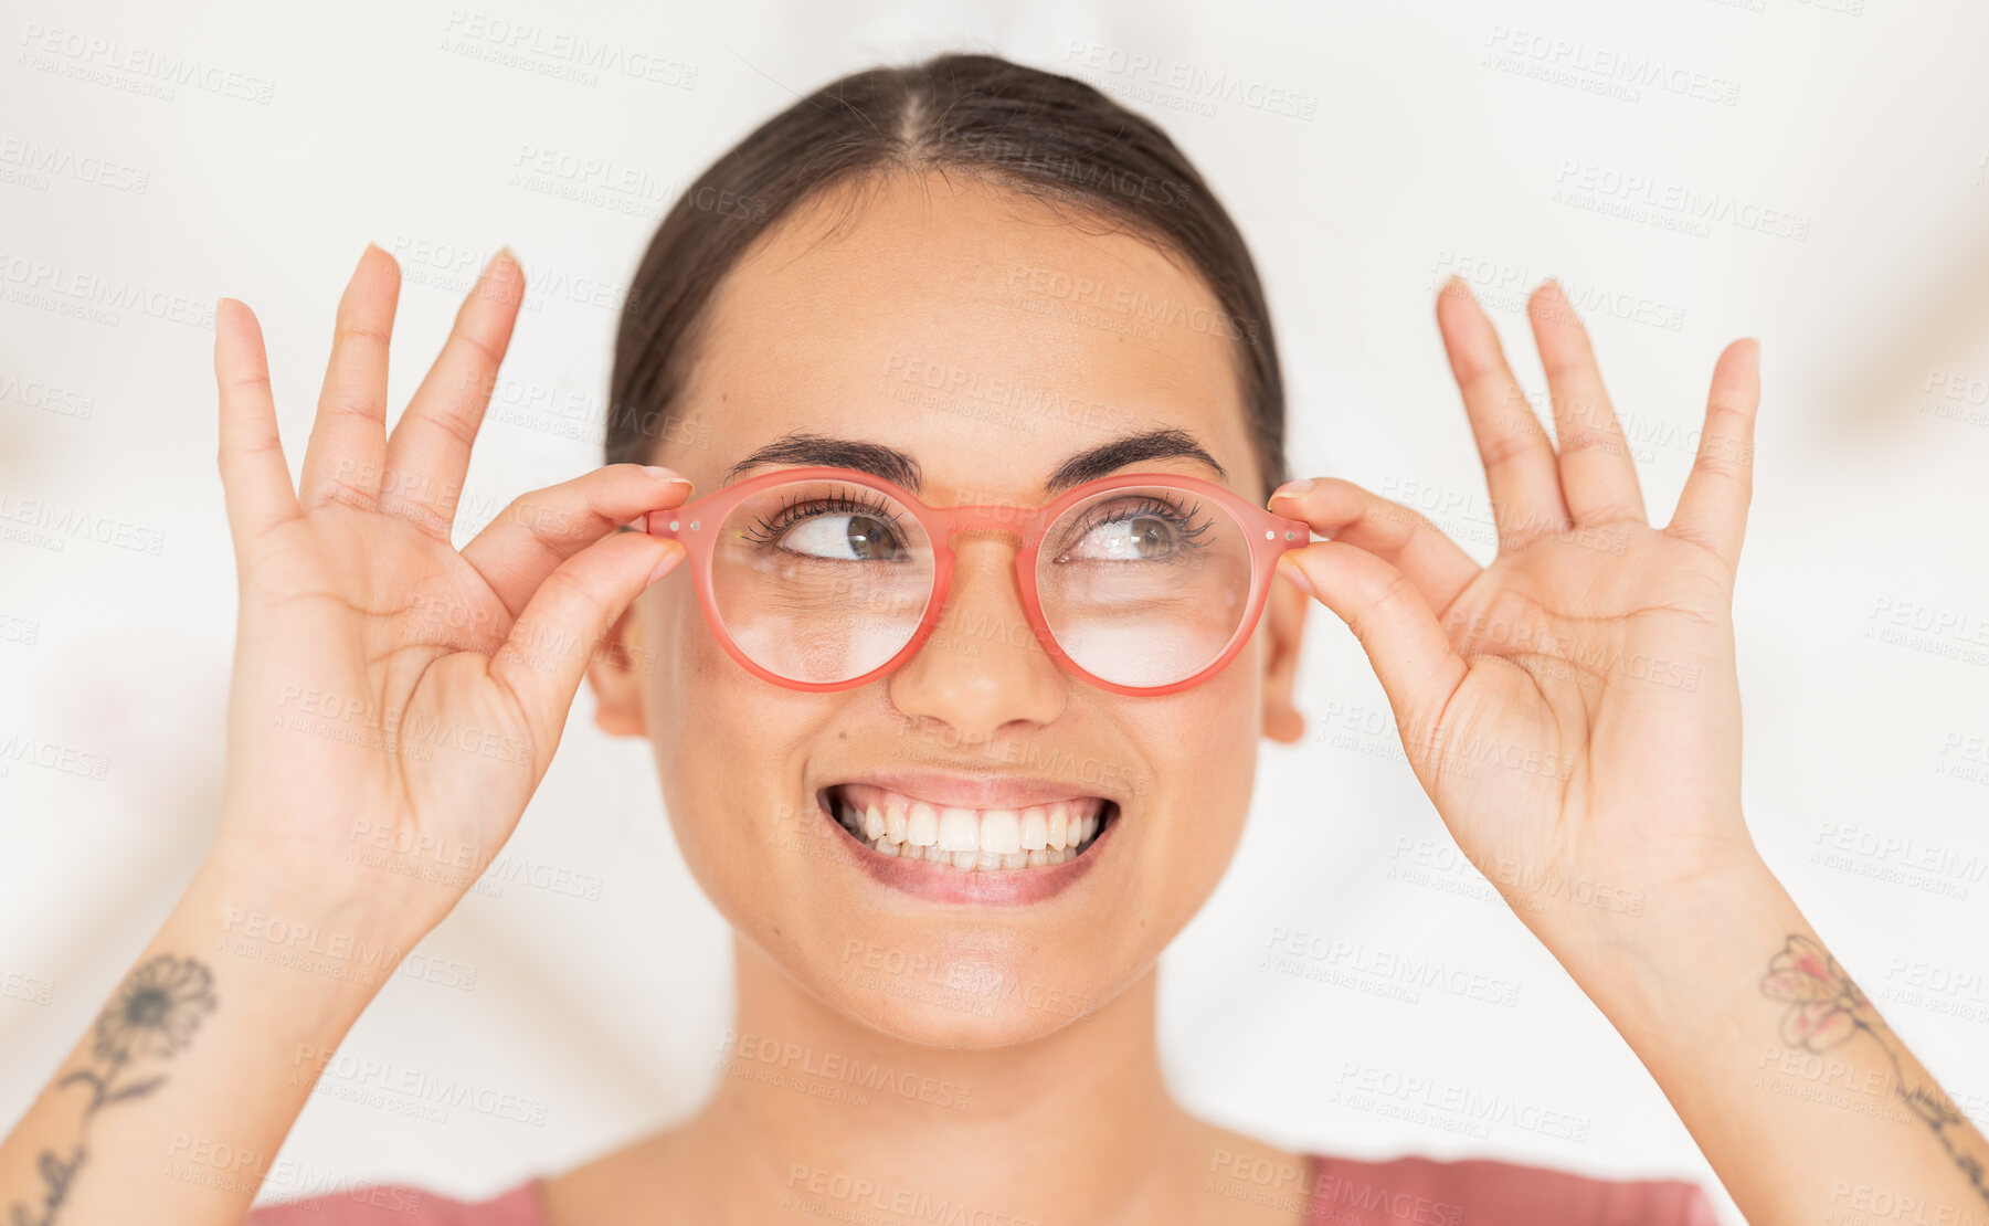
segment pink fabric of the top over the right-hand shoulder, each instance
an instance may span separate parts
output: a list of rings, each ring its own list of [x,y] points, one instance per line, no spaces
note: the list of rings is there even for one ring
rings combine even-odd
[[[1717,1226],[1705,1190],[1683,1178],[1619,1180],[1466,1158],[1360,1162],[1309,1154],[1313,1220],[1335,1226]]]

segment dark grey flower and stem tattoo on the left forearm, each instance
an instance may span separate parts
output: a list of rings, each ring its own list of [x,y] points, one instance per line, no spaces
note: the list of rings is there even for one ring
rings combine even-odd
[[[68,1156],[42,1150],[36,1162],[42,1172],[42,1204],[30,1208],[14,1202],[6,1226],[54,1226],[62,1202],[70,1194],[76,1170],[90,1154],[90,1121],[111,1103],[143,1099],[165,1083],[163,1073],[143,1077],[147,1063],[165,1061],[187,1047],[201,1019],[215,1011],[213,971],[193,957],[161,953],[117,987],[117,995],[97,1015],[95,1041],[82,1069],[56,1083],[90,1091],[84,1115],[76,1123],[76,1144]],[[125,1073],[131,1071],[131,1077]]]

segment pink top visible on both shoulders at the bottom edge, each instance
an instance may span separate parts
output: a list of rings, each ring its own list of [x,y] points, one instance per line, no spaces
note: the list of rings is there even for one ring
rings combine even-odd
[[[1488,1160],[1307,1154],[1305,1162],[1297,1186],[1265,1186],[1261,1200],[1307,1196],[1307,1218],[1327,1226],[1718,1226],[1699,1184],[1679,1178],[1589,1178]],[[547,1226],[541,1184],[535,1176],[473,1204],[406,1184],[364,1184],[267,1204],[245,1226]]]

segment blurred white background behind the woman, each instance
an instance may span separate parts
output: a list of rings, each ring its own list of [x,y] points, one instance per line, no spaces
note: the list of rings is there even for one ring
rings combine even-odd
[[[1534,392],[1524,293],[1559,275],[1587,305],[1659,521],[1691,464],[1713,358],[1734,336],[1762,338],[1736,599],[1748,822],[1892,1025],[1977,1121],[1989,1115],[1989,10],[8,0],[0,12],[0,1119],[26,1111],[213,836],[235,621],[215,299],[263,318],[294,466],[362,245],[404,271],[398,406],[469,277],[511,243],[537,289],[469,472],[467,539],[515,494],[599,462],[615,312],[589,291],[627,287],[668,199],[798,96],[943,50],[1074,72],[1160,119],[1267,279],[1295,470],[1420,506],[1480,559],[1484,478],[1432,312],[1450,271],[1492,306]],[[545,56],[515,68],[473,34],[485,22],[662,56],[680,84],[559,80],[533,68],[555,64]],[[38,30],[64,32],[58,50]],[[90,40],[113,46],[88,52]],[[215,88],[147,96],[155,78],[117,68],[133,56],[199,62],[219,70],[203,78]],[[1643,62],[1667,84],[1597,92],[1601,66]],[[1249,90],[1203,94],[1231,80]],[[237,96],[265,84],[267,100]],[[1271,90],[1279,102],[1251,103]],[[519,181],[545,151],[638,187]],[[1569,203],[1569,189],[1585,199]],[[1715,201],[1717,219],[1667,209],[1685,193]],[[1621,215],[1639,199],[1645,215]],[[48,293],[50,279],[97,283],[123,305]],[[1951,396],[1945,374],[1961,378]],[[537,392],[591,408],[565,422],[533,410]],[[91,527],[20,521],[38,515]],[[1235,866],[1164,967],[1179,1095],[1299,1148],[1695,1176],[1732,1214],[1607,1021],[1470,870],[1452,870],[1364,657],[1331,615],[1313,621],[1301,693],[1331,726],[1301,748],[1267,744]],[[354,1178],[485,1196],[708,1091],[730,1009],[726,929],[676,856],[646,748],[609,742],[589,715],[583,693],[499,862],[509,884],[471,894],[422,943],[432,961],[410,959],[342,1049],[378,1061],[376,1079],[459,1079],[543,1103],[545,1123],[463,1107],[436,1123],[350,1101],[368,1075],[328,1079],[284,1148],[298,1174],[271,1196]],[[107,760],[103,778],[38,764],[50,744]],[[535,880],[599,884],[599,900]],[[1438,959],[1490,975],[1518,987],[1516,1003],[1434,987],[1390,999],[1358,971],[1356,987],[1285,975],[1261,965],[1277,929],[1355,943],[1360,965]],[[469,975],[467,989],[448,985]],[[1510,1124],[1468,1136],[1335,1105],[1349,1069],[1422,1079],[1438,1099],[1506,1095],[1585,1123],[1585,1140]]]

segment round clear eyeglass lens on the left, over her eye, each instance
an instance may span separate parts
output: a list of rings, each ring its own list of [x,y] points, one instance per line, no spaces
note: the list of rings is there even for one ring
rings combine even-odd
[[[768,673],[849,681],[911,643],[933,597],[933,545],[881,490],[772,486],[718,527],[712,597],[726,633]]]

